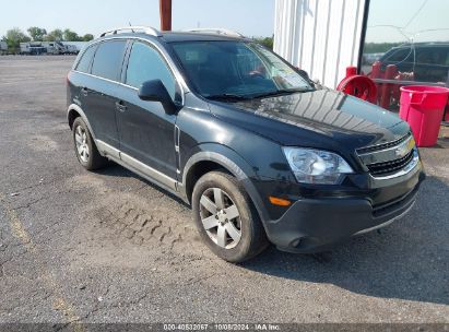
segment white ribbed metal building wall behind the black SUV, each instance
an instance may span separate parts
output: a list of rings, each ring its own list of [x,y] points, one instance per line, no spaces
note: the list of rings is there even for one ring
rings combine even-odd
[[[274,51],[335,87],[357,66],[365,0],[275,0]]]

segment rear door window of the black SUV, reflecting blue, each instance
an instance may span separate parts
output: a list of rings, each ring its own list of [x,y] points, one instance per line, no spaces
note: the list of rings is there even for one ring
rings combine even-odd
[[[117,81],[121,70],[126,42],[106,42],[98,46],[95,54],[92,74]]]

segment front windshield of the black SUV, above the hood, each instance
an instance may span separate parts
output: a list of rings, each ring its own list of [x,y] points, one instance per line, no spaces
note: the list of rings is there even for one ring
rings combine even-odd
[[[292,67],[256,43],[181,42],[173,48],[190,82],[206,98],[250,98],[312,88]]]

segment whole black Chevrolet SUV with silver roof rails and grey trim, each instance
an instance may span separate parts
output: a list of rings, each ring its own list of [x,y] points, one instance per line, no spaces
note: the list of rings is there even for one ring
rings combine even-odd
[[[407,123],[231,32],[128,29],[68,75],[78,159],[191,204],[218,257],[320,251],[411,210],[424,174]]]

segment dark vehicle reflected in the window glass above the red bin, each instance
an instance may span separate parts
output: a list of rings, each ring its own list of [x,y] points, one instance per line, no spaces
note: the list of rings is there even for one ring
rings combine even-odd
[[[404,44],[387,51],[379,61],[381,70],[394,64],[418,82],[446,82],[449,71],[449,43]]]

